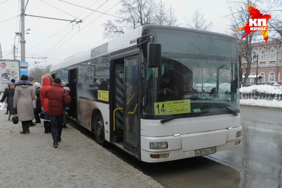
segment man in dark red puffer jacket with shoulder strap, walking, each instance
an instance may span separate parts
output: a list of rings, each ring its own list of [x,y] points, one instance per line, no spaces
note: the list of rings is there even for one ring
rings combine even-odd
[[[61,85],[61,79],[55,78],[52,87],[46,89],[45,96],[48,98],[47,114],[51,120],[51,133],[53,137],[53,146],[58,147],[61,142],[61,134],[63,129],[63,102],[70,104],[71,99],[68,91]]]

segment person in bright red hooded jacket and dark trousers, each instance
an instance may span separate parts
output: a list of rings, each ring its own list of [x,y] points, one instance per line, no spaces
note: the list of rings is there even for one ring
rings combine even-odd
[[[45,91],[48,88],[51,88],[53,85],[53,78],[51,76],[45,76],[42,81],[42,87],[40,88],[40,101],[41,101],[41,109],[45,113],[44,116],[44,133],[51,133],[51,121],[49,115],[47,114],[47,105],[48,98],[45,95]]]

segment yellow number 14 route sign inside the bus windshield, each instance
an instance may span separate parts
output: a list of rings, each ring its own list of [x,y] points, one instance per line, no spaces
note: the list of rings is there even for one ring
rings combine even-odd
[[[155,115],[184,114],[191,112],[190,99],[154,103]]]

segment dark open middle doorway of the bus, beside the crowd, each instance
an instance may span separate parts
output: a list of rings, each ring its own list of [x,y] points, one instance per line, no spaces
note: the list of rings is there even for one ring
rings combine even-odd
[[[72,88],[71,91],[71,105],[70,105],[70,117],[77,120],[77,66],[71,67],[68,70],[68,83]]]

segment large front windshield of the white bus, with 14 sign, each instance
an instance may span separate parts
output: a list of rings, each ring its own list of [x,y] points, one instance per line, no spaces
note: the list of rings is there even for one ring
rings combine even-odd
[[[220,105],[239,113],[236,39],[169,29],[152,29],[152,33],[162,44],[162,64],[148,68],[144,57],[142,118],[229,113],[226,108],[201,109]]]

